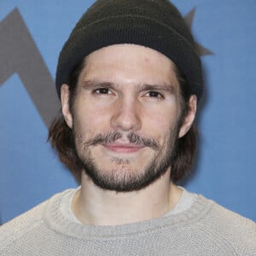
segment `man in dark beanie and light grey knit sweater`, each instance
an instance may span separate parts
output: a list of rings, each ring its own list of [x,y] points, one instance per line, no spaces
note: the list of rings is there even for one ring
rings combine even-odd
[[[203,83],[167,0],[99,0],[61,50],[49,129],[81,180],[0,230],[1,255],[255,255],[256,225],[176,183]]]

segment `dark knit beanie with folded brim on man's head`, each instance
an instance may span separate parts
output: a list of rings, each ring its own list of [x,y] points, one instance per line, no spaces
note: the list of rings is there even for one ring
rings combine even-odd
[[[61,49],[55,78],[58,95],[86,55],[112,44],[139,44],[166,55],[189,81],[189,93],[200,100],[201,60],[182,15],[168,0],[97,0]]]

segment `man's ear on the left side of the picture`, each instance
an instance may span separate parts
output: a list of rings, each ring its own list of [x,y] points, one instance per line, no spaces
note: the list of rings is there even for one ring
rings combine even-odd
[[[61,111],[69,128],[73,127],[73,116],[69,108],[69,86],[61,85]]]

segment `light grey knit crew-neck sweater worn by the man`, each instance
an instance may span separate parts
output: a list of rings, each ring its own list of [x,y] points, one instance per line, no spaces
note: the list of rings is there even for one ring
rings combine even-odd
[[[0,228],[0,255],[256,255],[256,224],[199,195],[191,207],[135,224],[70,221],[54,195]]]

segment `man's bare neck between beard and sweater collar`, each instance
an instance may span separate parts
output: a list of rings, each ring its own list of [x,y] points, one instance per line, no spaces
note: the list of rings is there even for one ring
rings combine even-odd
[[[115,192],[97,187],[83,172],[73,213],[81,223],[117,225],[160,218],[179,200],[182,191],[170,183],[170,170],[145,189]]]

